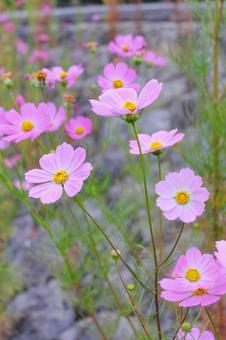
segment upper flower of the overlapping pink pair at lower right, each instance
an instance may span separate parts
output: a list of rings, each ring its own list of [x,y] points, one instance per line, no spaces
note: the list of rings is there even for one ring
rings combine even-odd
[[[213,255],[201,254],[198,248],[192,247],[185,255],[179,257],[172,271],[172,277],[190,285],[191,289],[196,289],[200,285],[211,283],[218,273],[219,265]]]

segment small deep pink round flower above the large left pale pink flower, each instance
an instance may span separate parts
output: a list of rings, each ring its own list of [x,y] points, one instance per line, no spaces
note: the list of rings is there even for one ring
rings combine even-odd
[[[65,130],[71,139],[83,139],[92,131],[92,121],[87,117],[71,118],[65,124]]]

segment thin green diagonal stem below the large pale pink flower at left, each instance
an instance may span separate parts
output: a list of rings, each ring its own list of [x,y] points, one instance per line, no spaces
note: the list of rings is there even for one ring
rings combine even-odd
[[[95,226],[99,229],[99,231],[102,233],[106,241],[109,243],[111,248],[115,251],[115,253],[118,255],[122,263],[125,265],[125,267],[128,269],[128,271],[134,276],[134,278],[139,282],[139,284],[146,289],[149,293],[153,294],[152,290],[148,288],[145,283],[143,283],[140,278],[137,276],[137,274],[133,271],[133,269],[128,265],[128,263],[124,260],[124,258],[121,256],[120,252],[117,250],[117,248],[114,246],[114,244],[111,242],[110,238],[106,234],[106,232],[102,229],[102,227],[96,222],[96,220],[93,218],[93,216],[88,212],[88,210],[84,207],[84,205],[80,202],[78,198],[75,197],[75,202],[78,204],[78,206],[86,213],[86,215],[91,219],[91,221],[95,224]]]

